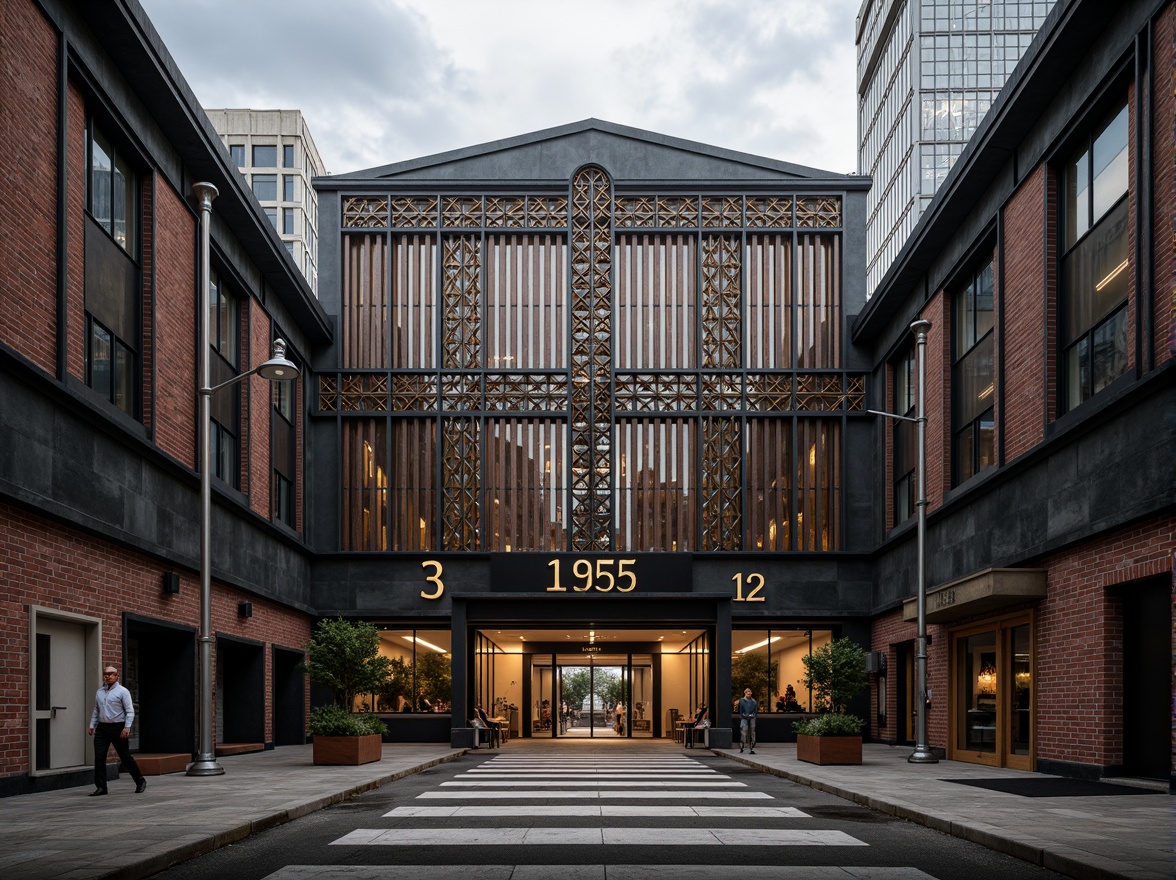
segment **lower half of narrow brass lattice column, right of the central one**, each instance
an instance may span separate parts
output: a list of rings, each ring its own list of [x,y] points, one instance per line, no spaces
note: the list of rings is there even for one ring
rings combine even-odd
[[[743,439],[739,419],[702,420],[702,549],[742,549]]]

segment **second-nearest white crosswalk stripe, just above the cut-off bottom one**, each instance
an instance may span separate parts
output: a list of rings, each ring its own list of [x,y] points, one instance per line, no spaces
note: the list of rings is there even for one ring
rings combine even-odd
[[[356,828],[332,846],[867,846],[787,828]]]

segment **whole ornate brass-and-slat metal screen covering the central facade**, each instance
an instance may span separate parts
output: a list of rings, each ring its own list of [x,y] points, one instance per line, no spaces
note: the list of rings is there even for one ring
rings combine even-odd
[[[841,198],[342,200],[341,546],[841,546]]]

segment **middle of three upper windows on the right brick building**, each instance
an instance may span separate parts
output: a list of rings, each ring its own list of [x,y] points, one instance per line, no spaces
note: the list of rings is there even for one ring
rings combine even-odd
[[[996,461],[991,260],[955,292],[951,306],[953,485],[958,486]]]

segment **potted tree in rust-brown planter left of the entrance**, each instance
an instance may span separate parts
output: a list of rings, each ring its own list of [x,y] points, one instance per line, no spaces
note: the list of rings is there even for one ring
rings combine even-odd
[[[306,674],[314,685],[330,688],[330,706],[310,712],[308,733],[315,764],[370,764],[382,756],[388,728],[370,712],[355,712],[355,698],[377,693],[390,660],[380,656],[374,626],[342,618],[320,620],[306,646]]]

